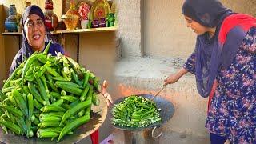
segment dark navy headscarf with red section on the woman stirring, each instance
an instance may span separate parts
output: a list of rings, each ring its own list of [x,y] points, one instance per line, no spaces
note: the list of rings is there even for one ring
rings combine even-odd
[[[242,27],[250,26],[254,20],[245,14],[234,14],[230,9],[222,6],[218,0],[186,0],[182,6],[182,14],[202,26],[216,27],[213,38],[210,38],[207,33],[199,35],[195,47],[195,76],[198,93],[202,97],[207,97],[218,70],[230,66],[237,54],[242,39],[246,35],[246,30]],[[232,23],[229,21],[222,25],[228,17],[229,19],[232,17],[231,21],[235,24],[228,26]],[[247,19],[249,21],[244,22]]]

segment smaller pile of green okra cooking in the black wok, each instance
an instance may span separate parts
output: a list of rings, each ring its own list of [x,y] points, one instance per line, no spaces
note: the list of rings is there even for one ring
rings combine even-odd
[[[112,123],[115,126],[138,128],[161,122],[160,109],[155,102],[136,95],[131,95],[114,105],[112,114]]]

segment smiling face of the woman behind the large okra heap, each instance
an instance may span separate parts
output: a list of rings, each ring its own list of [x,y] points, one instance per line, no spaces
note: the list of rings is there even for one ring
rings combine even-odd
[[[26,38],[34,51],[43,50],[45,44],[46,27],[37,14],[31,14],[25,22]]]

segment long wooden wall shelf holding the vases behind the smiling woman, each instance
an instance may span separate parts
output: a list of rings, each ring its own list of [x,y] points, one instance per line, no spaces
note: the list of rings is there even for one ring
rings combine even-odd
[[[72,33],[92,33],[92,32],[108,32],[118,30],[118,27],[99,27],[91,29],[77,29],[77,30],[56,30],[52,31],[51,34],[72,34]],[[4,32],[2,35],[22,35],[18,32]]]

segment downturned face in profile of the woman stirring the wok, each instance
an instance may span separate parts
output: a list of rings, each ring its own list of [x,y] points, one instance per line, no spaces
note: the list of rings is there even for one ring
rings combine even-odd
[[[206,26],[202,26],[200,23],[192,20],[192,18],[185,16],[185,19],[186,19],[186,26],[190,27],[195,34],[202,35],[208,31]]]

